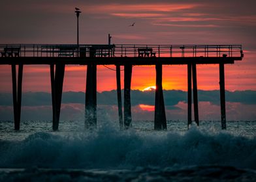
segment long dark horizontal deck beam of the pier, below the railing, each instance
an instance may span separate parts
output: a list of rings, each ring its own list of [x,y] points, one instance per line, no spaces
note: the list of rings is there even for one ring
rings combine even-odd
[[[3,57],[1,64],[78,64],[78,65],[182,65],[182,64],[234,64],[241,57]]]

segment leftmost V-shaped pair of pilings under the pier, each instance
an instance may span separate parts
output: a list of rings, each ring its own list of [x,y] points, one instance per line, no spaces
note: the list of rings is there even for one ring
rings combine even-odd
[[[12,64],[12,100],[14,111],[14,129],[20,130],[20,114],[22,108],[22,76],[23,64],[18,65],[18,90],[16,80],[16,65]]]

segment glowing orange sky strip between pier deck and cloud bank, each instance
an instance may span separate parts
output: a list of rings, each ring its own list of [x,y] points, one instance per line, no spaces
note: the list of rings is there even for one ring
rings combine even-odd
[[[115,68],[109,66],[109,68]],[[122,67],[121,67],[122,68]],[[254,70],[244,70],[243,61],[237,64],[226,65],[227,90],[256,90],[253,84]],[[10,66],[0,66],[0,92],[10,92]],[[197,66],[198,89],[219,89],[218,65]],[[24,92],[50,92],[49,66],[24,66]],[[143,90],[155,85],[154,66],[134,66],[131,88]],[[123,72],[121,72],[121,87],[123,88]],[[66,66],[63,91],[82,91],[86,88],[86,66]],[[104,66],[97,66],[97,91],[116,89],[116,72]],[[163,66],[163,89],[187,90],[187,66]]]

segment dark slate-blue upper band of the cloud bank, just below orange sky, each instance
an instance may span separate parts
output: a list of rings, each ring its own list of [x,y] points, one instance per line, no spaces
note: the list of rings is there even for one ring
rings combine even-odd
[[[123,96],[123,90],[122,96]],[[180,102],[187,102],[187,92],[182,90],[164,90],[165,105],[171,109],[177,109],[176,106]],[[226,101],[230,103],[242,103],[245,105],[256,105],[256,91],[234,91],[225,92]],[[210,102],[214,105],[219,105],[219,90],[199,90],[199,101]],[[123,99],[123,98],[122,98]],[[63,104],[84,104],[84,92],[63,92]],[[117,105],[116,90],[97,92],[98,105]],[[131,90],[131,104],[135,105],[154,105],[155,92],[140,90]],[[12,94],[0,93],[0,105],[12,106]],[[52,105],[52,96],[47,92],[25,92],[22,94],[22,106],[50,106]]]

